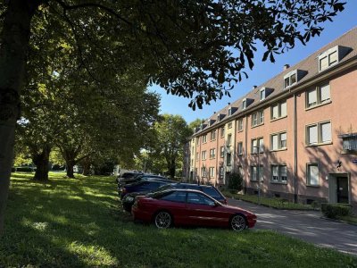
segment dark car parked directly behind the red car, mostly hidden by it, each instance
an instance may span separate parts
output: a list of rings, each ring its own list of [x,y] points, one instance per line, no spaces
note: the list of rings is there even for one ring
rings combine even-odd
[[[190,188],[190,189],[200,190],[200,191],[203,191],[203,193],[206,193],[207,195],[209,195],[210,197],[213,197],[214,199],[220,201],[220,203],[227,205],[227,198],[222,195],[222,193],[220,192],[220,190],[218,188],[215,188],[214,186],[197,185],[197,184],[192,184],[192,183],[170,183],[168,185],[164,185],[164,186],[154,189],[152,191],[129,193],[121,199],[121,205],[127,212],[131,212],[131,206],[134,204],[135,197],[145,196],[145,195],[150,196],[150,195],[155,194],[156,192],[160,192],[160,191],[167,190],[170,188]]]

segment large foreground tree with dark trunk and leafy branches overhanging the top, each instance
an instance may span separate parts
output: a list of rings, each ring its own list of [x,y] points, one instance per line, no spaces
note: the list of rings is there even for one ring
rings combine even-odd
[[[253,68],[256,40],[266,47],[263,60],[274,61],[274,54],[294,47],[295,40],[304,44],[319,35],[321,23],[343,9],[340,0],[2,2],[1,222],[33,26],[74,43],[73,53],[94,79],[98,70],[112,75],[125,71],[127,63],[144,63],[148,82],[168,93],[193,98],[190,106],[195,109],[229,95],[228,89],[245,75],[245,64]],[[116,42],[115,49],[105,50],[108,39]],[[88,58],[95,58],[92,63],[96,64],[87,64]],[[111,63],[117,68],[107,68]]]

